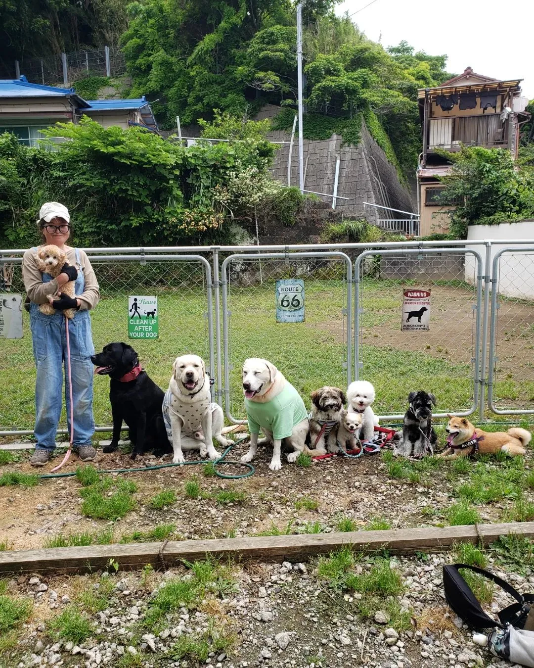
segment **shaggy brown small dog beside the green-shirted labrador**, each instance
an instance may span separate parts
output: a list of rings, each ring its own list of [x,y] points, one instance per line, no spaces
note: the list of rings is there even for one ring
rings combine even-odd
[[[310,395],[312,411],[310,413],[310,447],[304,452],[312,457],[337,452],[336,434],[341,420],[341,411],[346,403],[346,396],[339,387],[320,387]]]

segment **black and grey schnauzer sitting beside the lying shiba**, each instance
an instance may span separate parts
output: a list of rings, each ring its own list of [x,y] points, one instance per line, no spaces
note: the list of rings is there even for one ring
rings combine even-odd
[[[423,390],[410,392],[409,409],[405,413],[402,432],[394,436],[394,454],[420,459],[425,454],[434,454],[438,437],[432,426],[432,406],[436,397]]]

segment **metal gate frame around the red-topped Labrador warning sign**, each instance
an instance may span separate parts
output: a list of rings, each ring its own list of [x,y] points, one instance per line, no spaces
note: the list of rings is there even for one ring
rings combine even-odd
[[[473,250],[472,248],[398,248],[396,250],[381,250],[380,248],[372,249],[370,251],[364,251],[360,253],[356,260],[354,261],[354,378],[358,380],[360,372],[360,315],[362,309],[360,309],[360,270],[362,266],[362,261],[366,257],[372,255],[380,255],[382,257],[394,257],[398,255],[429,255],[431,253],[445,253],[445,254],[455,254],[458,253],[471,253],[476,260],[476,277],[477,277],[477,317],[475,322],[475,378],[473,379],[473,403],[471,408],[468,411],[457,412],[451,409],[451,412],[454,412],[455,415],[459,417],[464,417],[466,415],[472,415],[475,413],[479,404],[481,403],[481,397],[483,397],[483,390],[481,389],[481,368],[480,368],[480,349],[481,349],[481,320],[482,320],[482,306],[483,306],[483,281],[484,276],[482,273],[483,261],[482,256],[478,251]],[[446,418],[447,413],[433,413],[435,418]],[[396,415],[379,415],[382,420],[402,420],[404,413]]]

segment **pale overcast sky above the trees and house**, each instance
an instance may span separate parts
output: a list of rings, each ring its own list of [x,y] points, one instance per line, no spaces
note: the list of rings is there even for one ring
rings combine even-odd
[[[349,14],[371,0],[347,0],[336,14]],[[534,3],[497,0],[375,0],[352,16],[369,39],[384,47],[405,39],[416,51],[446,53],[447,71],[469,65],[495,79],[524,79],[523,95],[534,98]]]

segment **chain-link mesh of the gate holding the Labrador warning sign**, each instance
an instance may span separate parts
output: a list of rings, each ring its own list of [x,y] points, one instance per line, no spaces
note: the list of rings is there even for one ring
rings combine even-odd
[[[474,257],[471,269],[467,253]],[[437,414],[475,411],[481,273],[481,257],[464,248],[373,250],[358,257],[354,375],[373,383],[375,412],[402,417],[409,393],[420,389],[435,394]],[[408,288],[431,292],[429,331],[401,331]]]

